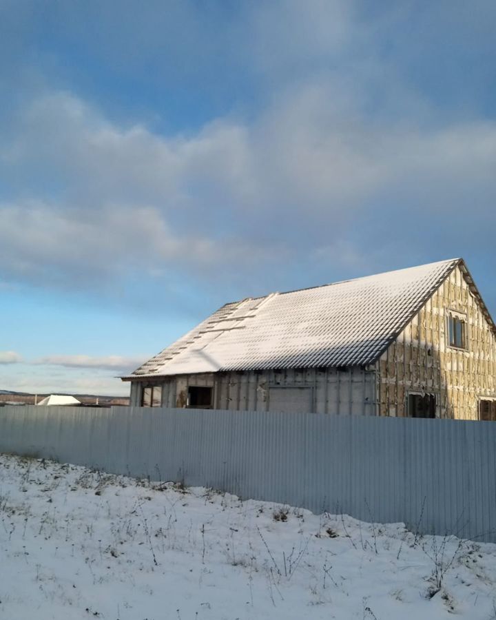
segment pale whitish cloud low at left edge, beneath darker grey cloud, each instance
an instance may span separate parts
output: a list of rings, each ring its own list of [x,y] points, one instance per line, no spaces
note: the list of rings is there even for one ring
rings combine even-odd
[[[185,256],[187,249],[192,260],[211,253],[208,240],[174,236],[155,207],[71,209],[28,201],[0,204],[0,213],[3,270],[31,280],[67,283],[78,275],[88,285],[95,276],[105,281],[116,271]]]

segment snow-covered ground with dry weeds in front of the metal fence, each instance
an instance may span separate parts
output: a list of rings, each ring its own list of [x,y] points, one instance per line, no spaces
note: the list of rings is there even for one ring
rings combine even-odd
[[[496,619],[496,545],[0,455],[0,618]]]

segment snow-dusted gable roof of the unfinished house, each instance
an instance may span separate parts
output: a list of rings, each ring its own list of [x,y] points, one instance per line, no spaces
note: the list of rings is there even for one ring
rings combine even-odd
[[[457,265],[495,330],[464,261],[455,258],[225,304],[123,380],[371,364]]]

